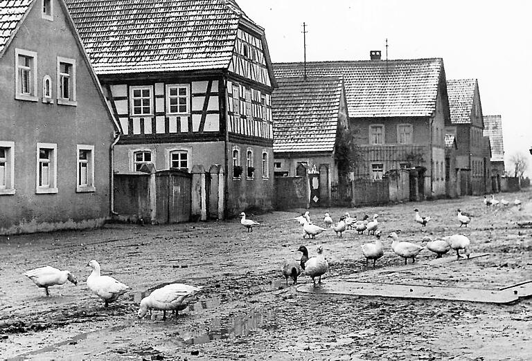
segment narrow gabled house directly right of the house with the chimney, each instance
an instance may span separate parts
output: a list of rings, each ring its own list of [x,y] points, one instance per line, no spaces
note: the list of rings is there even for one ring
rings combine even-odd
[[[484,120],[476,79],[447,80],[451,110],[446,133],[453,134],[459,149],[456,167],[463,169],[462,194],[484,194],[488,184],[489,143],[484,136]]]

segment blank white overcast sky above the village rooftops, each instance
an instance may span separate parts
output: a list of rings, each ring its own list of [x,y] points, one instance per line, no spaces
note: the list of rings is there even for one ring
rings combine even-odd
[[[477,78],[484,115],[502,115],[508,158],[532,174],[532,1],[237,0],[263,26],[273,62],[442,57],[447,79]]]

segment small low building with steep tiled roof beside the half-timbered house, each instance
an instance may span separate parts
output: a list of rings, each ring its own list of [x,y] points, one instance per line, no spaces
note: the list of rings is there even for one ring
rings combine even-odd
[[[332,185],[346,180],[348,163],[342,156],[348,134],[346,94],[342,77],[276,78],[272,96],[274,174],[319,174],[311,204],[330,205]]]

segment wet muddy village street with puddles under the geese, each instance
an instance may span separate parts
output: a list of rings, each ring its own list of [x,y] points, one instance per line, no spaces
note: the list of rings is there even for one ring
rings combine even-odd
[[[0,355],[15,360],[531,360],[532,304],[512,305],[301,293],[285,286],[283,259],[299,259],[322,244],[330,263],[323,286],[360,278],[398,284],[432,284],[497,290],[532,279],[532,192],[499,194],[523,207],[486,209],[482,197],[348,209],[379,214],[384,257],[366,266],[360,245],[373,236],[331,231],[303,239],[292,218],[303,210],[251,216],[247,233],[238,220],[178,225],[109,224],[100,230],[53,232],[0,239]],[[414,222],[414,207],[432,221]],[[456,208],[472,214],[459,228]],[[337,219],[347,209],[312,209]],[[385,277],[402,266],[386,234],[420,242],[460,232],[486,257],[453,261]],[[447,254],[445,257],[454,257]],[[420,253],[427,263],[434,254]],[[133,290],[109,308],[85,280],[96,259],[105,275]],[[80,281],[50,288],[51,296],[21,275],[51,265]],[[136,311],[150,288],[169,282],[204,286],[199,302],[177,318]],[[301,277],[300,282],[310,282]]]

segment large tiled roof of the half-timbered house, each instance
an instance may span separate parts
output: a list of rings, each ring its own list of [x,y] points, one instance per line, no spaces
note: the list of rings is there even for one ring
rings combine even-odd
[[[98,74],[227,68],[234,0],[66,0]]]

